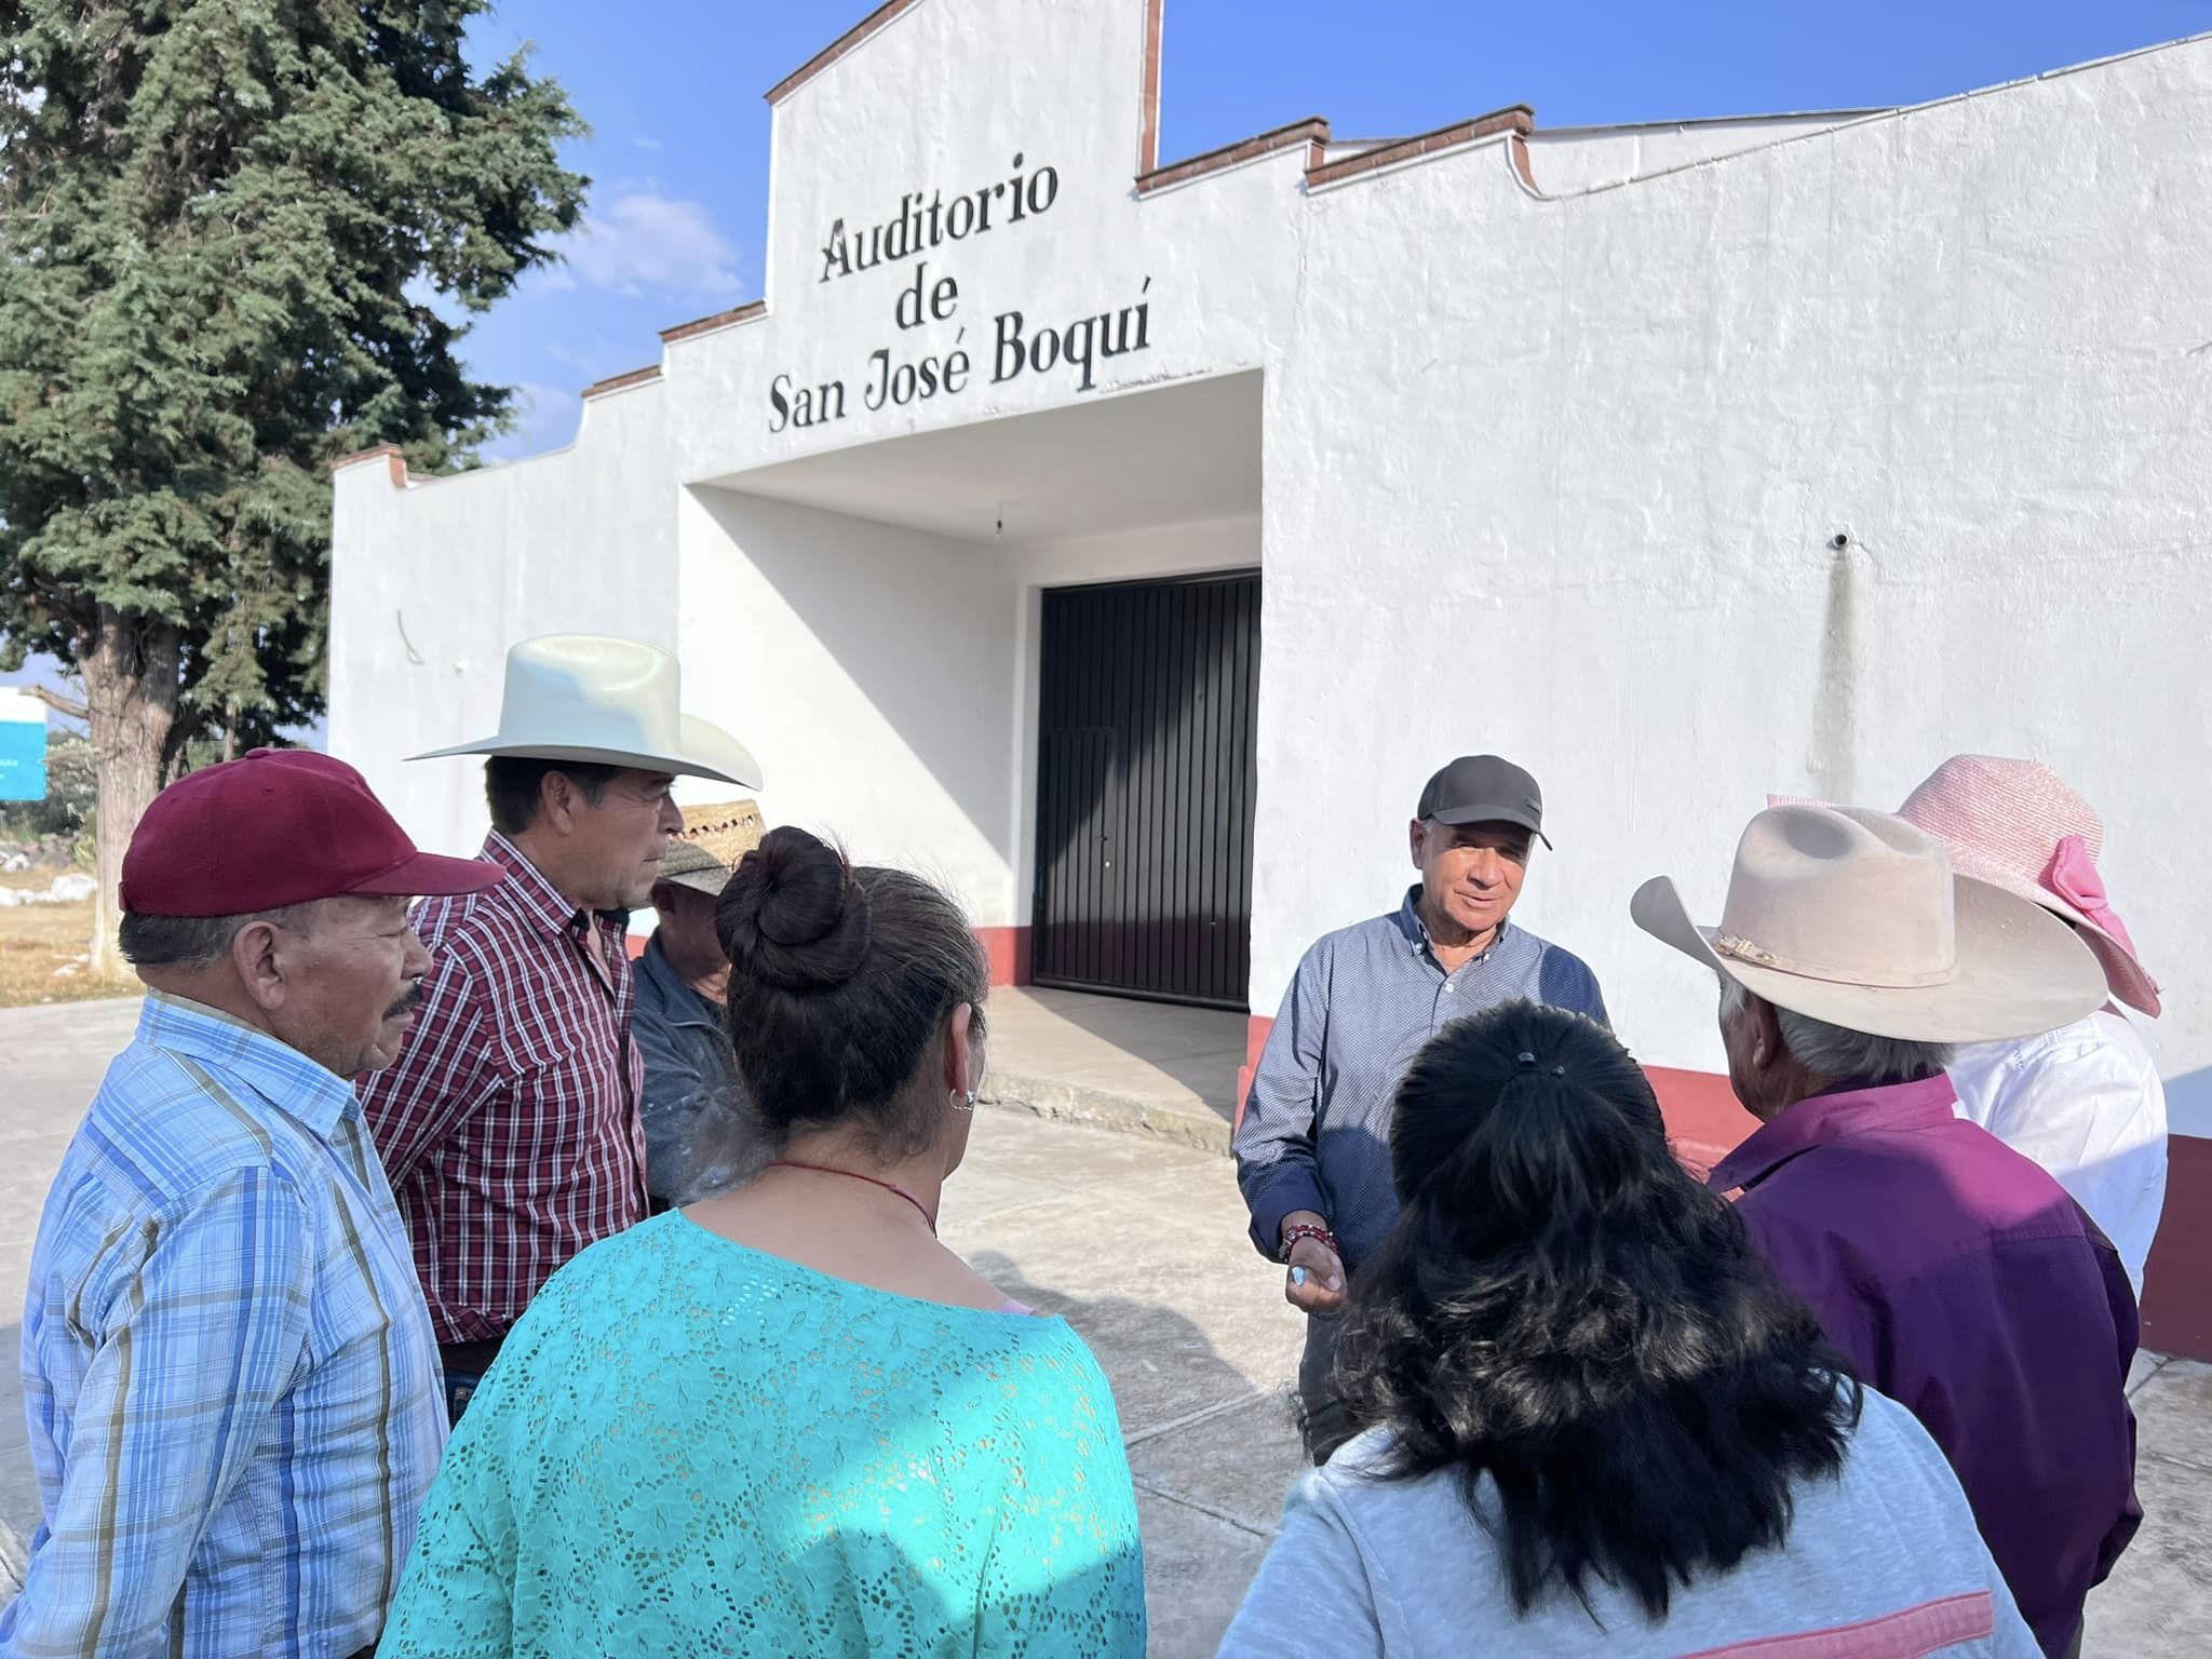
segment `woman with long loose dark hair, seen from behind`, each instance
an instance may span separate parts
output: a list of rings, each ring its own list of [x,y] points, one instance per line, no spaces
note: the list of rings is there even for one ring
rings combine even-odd
[[[1334,1371],[1349,1438],[1223,1655],[2035,1659],[1936,1442],[1674,1161],[1604,1029],[1526,1002],[1447,1026],[1391,1177]]]

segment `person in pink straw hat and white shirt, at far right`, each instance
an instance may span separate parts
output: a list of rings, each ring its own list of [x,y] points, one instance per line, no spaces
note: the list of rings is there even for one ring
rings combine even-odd
[[[2104,1228],[2141,1296],[2166,1208],[2166,1086],[2117,1004],[2157,1020],[2159,987],[2097,874],[2104,823],[2048,765],[1993,754],[1953,754],[1898,816],[1936,836],[1958,874],[2073,927],[2104,969],[2101,1009],[2024,1040],[1962,1044],[1949,1073],[1958,1115],[2051,1170]]]

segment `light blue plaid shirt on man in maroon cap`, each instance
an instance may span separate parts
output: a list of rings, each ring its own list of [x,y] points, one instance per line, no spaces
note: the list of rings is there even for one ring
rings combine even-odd
[[[148,995],[46,1194],[22,1380],[44,1520],[0,1655],[376,1641],[445,1402],[347,1082]]]

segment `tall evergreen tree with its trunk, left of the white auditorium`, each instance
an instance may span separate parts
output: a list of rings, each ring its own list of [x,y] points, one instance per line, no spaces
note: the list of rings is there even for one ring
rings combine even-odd
[[[575,223],[566,93],[476,75],[491,0],[0,0],[0,666],[100,761],[95,967],[190,748],[323,708],[330,462],[473,465],[465,327]]]

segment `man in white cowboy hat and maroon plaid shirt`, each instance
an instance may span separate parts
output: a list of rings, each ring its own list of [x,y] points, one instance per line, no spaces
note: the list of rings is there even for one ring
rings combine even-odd
[[[551,635],[507,653],[482,754],[498,887],[431,900],[438,960],[396,1066],[361,1091],[414,1237],[445,1367],[469,1394],[531,1296],[646,1217],[628,911],[684,816],[677,776],[757,790],[745,748],[681,708],[681,670],[635,639]]]

